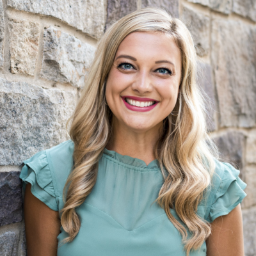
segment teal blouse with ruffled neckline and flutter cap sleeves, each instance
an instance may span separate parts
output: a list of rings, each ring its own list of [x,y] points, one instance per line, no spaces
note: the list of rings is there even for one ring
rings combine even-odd
[[[72,170],[71,140],[38,152],[24,161],[20,173],[23,188],[54,211],[63,208],[62,191]],[[230,164],[216,161],[211,188],[205,191],[198,215],[210,223],[228,214],[246,196],[246,184]],[[71,243],[58,248],[58,256],[186,256],[182,237],[164,210],[154,203],[163,184],[157,160],[144,161],[104,149],[97,182],[76,211],[81,228]],[[180,220],[175,210],[173,216]],[[61,227],[58,241],[67,237]],[[206,244],[191,256],[205,256]]]

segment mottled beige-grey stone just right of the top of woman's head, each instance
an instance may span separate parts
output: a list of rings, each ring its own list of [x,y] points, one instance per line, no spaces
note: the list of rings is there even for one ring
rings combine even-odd
[[[210,19],[191,8],[183,8],[182,20],[193,36],[196,53],[204,56],[209,52]]]

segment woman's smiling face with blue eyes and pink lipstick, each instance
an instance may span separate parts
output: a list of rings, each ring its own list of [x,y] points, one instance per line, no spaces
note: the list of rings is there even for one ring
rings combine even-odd
[[[163,124],[179,93],[181,54],[164,33],[134,32],[116,52],[106,83],[114,124],[145,132]]]

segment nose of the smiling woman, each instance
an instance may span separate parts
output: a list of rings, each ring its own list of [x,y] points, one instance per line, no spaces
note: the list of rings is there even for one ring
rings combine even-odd
[[[148,74],[146,70],[140,70],[140,72],[138,72],[134,83],[132,83],[132,90],[140,94],[152,92],[152,80],[150,79],[150,74]]]

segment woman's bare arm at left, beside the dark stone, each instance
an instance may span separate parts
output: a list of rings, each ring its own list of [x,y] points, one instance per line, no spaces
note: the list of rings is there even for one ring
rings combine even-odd
[[[59,212],[53,211],[31,193],[26,185],[24,218],[28,256],[56,256],[60,234]]]

